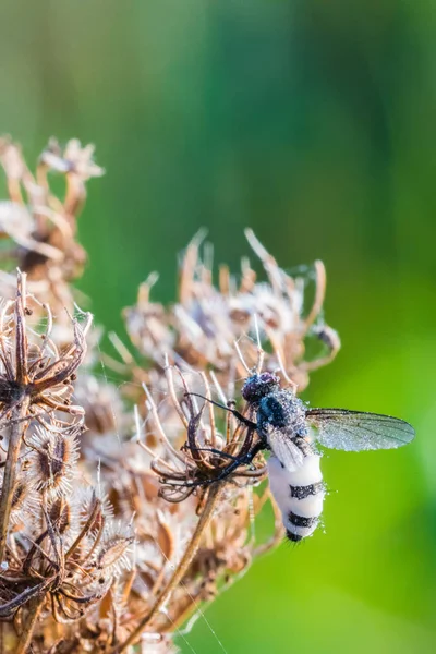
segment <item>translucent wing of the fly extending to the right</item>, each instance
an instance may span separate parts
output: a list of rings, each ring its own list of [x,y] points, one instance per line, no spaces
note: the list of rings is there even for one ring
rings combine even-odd
[[[405,421],[378,413],[310,409],[306,419],[317,429],[320,445],[331,449],[392,449],[407,445],[415,436],[414,428]]]

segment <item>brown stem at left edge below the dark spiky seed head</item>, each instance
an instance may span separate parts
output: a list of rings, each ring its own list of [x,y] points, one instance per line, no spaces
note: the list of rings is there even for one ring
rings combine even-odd
[[[8,457],[4,464],[3,486],[0,497],[0,562],[4,560],[4,550],[7,546],[9,519],[13,493],[16,479],[16,463],[20,455],[20,446],[27,423],[23,419],[26,416],[29,398],[23,398],[19,407],[12,411],[12,426],[9,438]]]

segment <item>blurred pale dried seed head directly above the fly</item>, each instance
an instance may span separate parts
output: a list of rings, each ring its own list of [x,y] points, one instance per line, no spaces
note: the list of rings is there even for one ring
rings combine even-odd
[[[266,281],[257,282],[256,274],[243,259],[240,283],[222,268],[220,287],[214,287],[209,251],[205,247],[202,261],[202,238],[196,237],[181,263],[178,303],[166,311],[150,302],[149,291],[156,278],[147,280],[141,287],[136,306],[125,310],[128,331],[134,344],[158,366],[164,364],[167,352],[174,363],[183,361],[199,368],[211,365],[225,385],[233,374],[233,364],[237,377],[244,374],[234,359],[234,341],[245,338],[244,355],[251,365],[259,338],[259,344],[268,352],[272,350],[266,356],[266,370],[283,368],[301,390],[307,385],[307,371],[331,361],[340,346],[338,338],[319,338],[325,350],[314,360],[304,361],[306,339],[332,332],[322,315],[324,266],[316,262],[305,276],[291,277],[251,230],[246,230],[246,237],[264,265]],[[307,306],[311,283],[315,296]]]

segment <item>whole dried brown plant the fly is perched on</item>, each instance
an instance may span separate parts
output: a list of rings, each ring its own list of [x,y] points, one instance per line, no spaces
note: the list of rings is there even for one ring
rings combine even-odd
[[[175,652],[177,630],[282,536],[239,401],[244,362],[302,389],[339,349],[323,319],[320,262],[288,275],[247,230],[266,279],[243,259],[240,280],[221,267],[217,288],[198,235],[177,303],[150,301],[152,275],[125,310],[136,354],[112,337],[122,362],[107,361],[130,385],[121,392],[96,376],[99,335],[71,287],[86,259],[76,242],[85,182],[102,173],[93,152],[52,141],[33,175],[0,141],[10,195],[0,203],[3,652]],[[49,172],[65,177],[63,198]],[[275,524],[259,543],[253,520],[266,502]]]

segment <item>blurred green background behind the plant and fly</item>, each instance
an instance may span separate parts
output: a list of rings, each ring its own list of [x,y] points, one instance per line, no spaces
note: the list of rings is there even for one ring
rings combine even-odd
[[[81,288],[120,329],[201,226],[238,265],[323,258],[337,361],[313,404],[402,416],[403,450],[332,452],[325,532],[206,613],[228,654],[436,651],[436,11],[400,0],[2,0],[0,130],[97,146]],[[337,492],[337,493],[336,493]],[[222,653],[206,620],[183,653]]]

